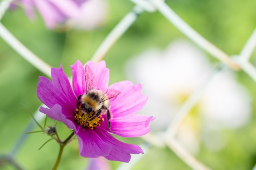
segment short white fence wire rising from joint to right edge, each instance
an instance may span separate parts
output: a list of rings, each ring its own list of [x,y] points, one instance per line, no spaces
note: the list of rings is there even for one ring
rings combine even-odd
[[[248,61],[255,47],[256,47],[256,29],[254,29],[252,35],[249,37],[249,39],[245,43],[245,46],[243,47],[240,53],[240,59]]]

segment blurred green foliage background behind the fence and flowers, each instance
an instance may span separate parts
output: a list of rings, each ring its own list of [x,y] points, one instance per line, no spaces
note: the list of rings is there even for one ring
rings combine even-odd
[[[54,67],[59,67],[61,63],[65,73],[70,76],[70,65],[76,60],[82,63],[90,60],[108,33],[134,6],[128,0],[109,0],[108,3],[109,16],[106,24],[93,31],[48,30],[39,15],[31,22],[22,9],[7,11],[2,18],[2,24],[45,62]],[[229,55],[240,53],[256,27],[255,0],[166,0],[166,3],[193,29]],[[110,68],[110,84],[127,79],[123,67],[129,57],[150,47],[164,49],[177,38],[185,37],[159,12],[144,12],[139,15],[136,22],[110,49],[104,59]],[[211,56],[209,59],[217,62]],[[252,62],[256,62],[255,56],[252,57]],[[256,163],[256,83],[243,71],[237,74],[241,84],[248,89],[252,97],[253,117],[243,128],[224,132],[228,146],[222,150],[213,152],[204,145],[200,146],[200,152],[196,157],[214,170],[250,170]],[[12,150],[31,119],[19,103],[27,106],[32,113],[40,106],[41,103],[36,96],[36,85],[40,75],[43,73],[31,66],[0,38],[0,154]],[[48,124],[51,125],[51,121]],[[57,128],[62,139],[70,133],[61,123],[57,124]],[[28,135],[16,157],[22,168],[52,168],[58,154],[58,144],[50,141],[38,151],[48,139],[47,135],[41,133]],[[140,138],[118,139],[132,144],[143,142]],[[79,156],[77,140],[74,140],[65,148],[59,169],[81,170],[87,161],[88,159]],[[111,161],[110,164],[115,169],[120,163]],[[15,170],[13,166],[3,162],[0,162],[0,169]],[[152,146],[133,169],[190,168],[170,149]]]

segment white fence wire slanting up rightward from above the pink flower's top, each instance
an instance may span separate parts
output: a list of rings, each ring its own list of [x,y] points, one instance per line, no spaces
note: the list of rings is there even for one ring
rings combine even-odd
[[[108,34],[108,36],[103,40],[97,51],[92,56],[92,62],[100,62],[110,48],[115,44],[115,42],[123,35],[126,30],[132,25],[137,19],[138,15],[142,13],[143,10],[139,6],[135,6],[132,11],[115,26],[114,29]]]

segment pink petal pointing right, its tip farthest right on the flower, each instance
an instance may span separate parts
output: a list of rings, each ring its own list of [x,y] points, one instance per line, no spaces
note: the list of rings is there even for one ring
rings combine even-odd
[[[153,116],[148,117],[145,115],[132,115],[125,119],[112,119],[110,120],[111,130],[114,132],[113,134],[121,137],[140,137],[150,132],[149,124],[154,119],[155,117]],[[110,132],[106,123],[101,123],[99,128]]]

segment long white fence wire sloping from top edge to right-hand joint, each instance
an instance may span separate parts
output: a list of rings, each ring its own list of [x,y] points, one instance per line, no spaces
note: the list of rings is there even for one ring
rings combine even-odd
[[[177,27],[177,29],[190,38],[195,44],[198,44],[198,46],[213,55],[213,57],[216,57],[218,60],[227,64],[230,68],[239,70],[240,66],[238,64],[233,62],[226,53],[218,49],[191,28],[191,26],[184,22],[184,20],[182,20],[170,7],[168,7],[165,2],[162,0],[150,0],[150,2],[152,2],[162,15],[164,15],[171,23],[173,23],[174,26]]]

